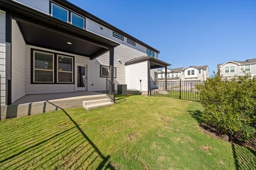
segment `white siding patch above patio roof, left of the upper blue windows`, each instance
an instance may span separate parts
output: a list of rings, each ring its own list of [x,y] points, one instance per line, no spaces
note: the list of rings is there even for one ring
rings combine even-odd
[[[13,0],[19,2],[23,5],[34,8],[35,10],[41,11],[43,13],[49,14],[50,11],[50,1],[49,0]]]

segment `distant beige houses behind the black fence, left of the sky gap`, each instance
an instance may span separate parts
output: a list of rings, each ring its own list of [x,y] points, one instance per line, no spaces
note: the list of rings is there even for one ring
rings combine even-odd
[[[207,65],[167,69],[168,81],[178,81],[180,79],[182,81],[206,81],[207,78],[209,78],[209,68]],[[165,69],[158,70],[158,80],[165,80]]]

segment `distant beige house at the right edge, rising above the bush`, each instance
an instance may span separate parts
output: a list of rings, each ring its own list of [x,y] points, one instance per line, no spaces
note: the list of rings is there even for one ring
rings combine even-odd
[[[244,73],[251,73],[254,77],[256,75],[256,58],[246,61],[228,61],[224,64],[218,64],[217,68],[218,74],[225,78],[233,78],[236,75],[244,75]]]

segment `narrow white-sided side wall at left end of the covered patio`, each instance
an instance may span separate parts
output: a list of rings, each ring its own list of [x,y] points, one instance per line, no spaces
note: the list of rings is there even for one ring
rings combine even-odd
[[[12,20],[12,102],[25,96],[26,44],[19,27]]]

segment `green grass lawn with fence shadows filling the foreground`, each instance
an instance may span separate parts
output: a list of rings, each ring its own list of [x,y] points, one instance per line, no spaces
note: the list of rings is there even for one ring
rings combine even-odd
[[[119,96],[113,106],[0,122],[0,169],[255,169],[255,150],[210,137],[199,103]]]

